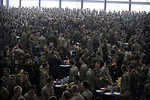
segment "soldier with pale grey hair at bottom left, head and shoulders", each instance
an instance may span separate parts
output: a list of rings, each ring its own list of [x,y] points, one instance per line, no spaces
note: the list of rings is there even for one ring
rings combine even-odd
[[[21,95],[22,88],[20,86],[16,86],[14,88],[14,96],[11,100],[25,100],[25,98]]]

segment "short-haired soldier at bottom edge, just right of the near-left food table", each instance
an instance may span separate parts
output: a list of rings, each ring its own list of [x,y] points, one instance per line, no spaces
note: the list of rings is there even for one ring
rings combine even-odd
[[[78,90],[77,85],[73,85],[71,87],[71,92],[73,94],[73,97],[71,98],[71,100],[85,100],[84,97],[79,94],[79,90]]]

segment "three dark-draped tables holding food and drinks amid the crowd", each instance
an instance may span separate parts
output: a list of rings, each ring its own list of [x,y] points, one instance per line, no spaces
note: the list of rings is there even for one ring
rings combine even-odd
[[[63,70],[64,72],[70,69],[70,65],[61,65],[60,66],[61,70]],[[67,79],[69,77],[66,77]],[[65,80],[66,80],[65,78]],[[67,82],[65,81],[65,83],[61,82],[64,79],[61,80],[56,80],[54,81],[54,89],[55,89],[55,94],[58,98],[61,98],[62,93],[66,90],[66,87],[68,86]],[[114,86],[109,86],[109,87],[105,87],[105,88],[101,88],[99,90],[95,90],[93,92],[93,96],[94,96],[94,100],[100,100],[100,98],[102,98],[103,100],[118,100],[117,98],[119,98],[120,93],[118,92],[118,89],[114,89],[120,86],[121,84],[121,79],[118,78],[118,80],[116,80],[117,84],[115,84]],[[115,90],[115,91],[114,91]],[[117,91],[116,91],[117,90]]]

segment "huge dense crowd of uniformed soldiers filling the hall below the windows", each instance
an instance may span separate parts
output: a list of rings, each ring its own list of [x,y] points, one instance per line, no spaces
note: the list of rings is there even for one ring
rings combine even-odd
[[[122,77],[124,99],[150,98],[150,13],[0,6],[0,99],[57,100],[53,82],[69,60],[62,100],[94,100]]]

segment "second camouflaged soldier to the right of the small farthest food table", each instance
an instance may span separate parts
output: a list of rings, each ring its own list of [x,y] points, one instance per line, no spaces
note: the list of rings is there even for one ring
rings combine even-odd
[[[80,58],[80,63],[81,63],[81,67],[80,67],[80,79],[81,81],[85,81],[86,80],[86,74],[88,71],[88,66],[85,64],[85,59],[84,58]]]

